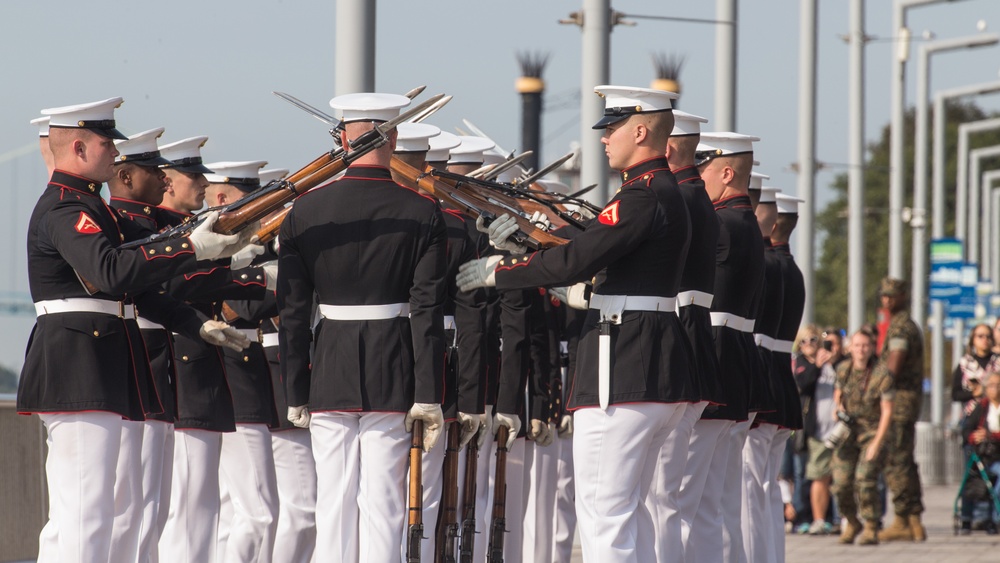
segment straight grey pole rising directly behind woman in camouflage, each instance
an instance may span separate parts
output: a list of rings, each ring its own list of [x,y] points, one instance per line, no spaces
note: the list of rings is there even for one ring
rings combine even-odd
[[[847,319],[865,322],[865,1],[851,0],[847,134]]]

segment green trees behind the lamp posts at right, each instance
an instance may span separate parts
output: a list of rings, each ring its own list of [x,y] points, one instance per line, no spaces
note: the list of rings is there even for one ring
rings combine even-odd
[[[983,113],[974,103],[948,103],[947,127],[945,131],[945,234],[955,232],[955,175],[958,169],[958,126],[969,121],[978,121],[996,115]],[[905,121],[906,145],[904,147],[905,177],[905,207],[913,204],[913,110],[907,112]],[[933,124],[933,118],[929,121]],[[928,132],[927,154],[930,157],[932,142]],[[1000,131],[988,131],[971,135],[969,148],[988,147],[1000,144]],[[878,308],[878,282],[888,273],[889,261],[889,126],[882,128],[879,141],[868,146],[868,160],[865,164],[865,208],[847,209],[847,174],[838,174],[830,189],[836,197],[826,209],[816,216],[818,239],[822,240],[819,268],[816,271],[816,322],[822,325],[845,326],[847,324],[847,217],[848,213],[865,214],[865,295],[868,321],[875,320]],[[986,159],[982,170],[1000,168],[1000,159]],[[932,174],[931,166],[928,173]],[[970,178],[971,182],[971,178]],[[930,206],[931,179],[927,179],[928,206]],[[932,226],[931,210],[927,210],[927,232],[930,240]],[[909,279],[909,269],[912,253],[911,230],[909,225],[903,225],[903,263],[905,277]],[[858,327],[847,327],[853,331]]]

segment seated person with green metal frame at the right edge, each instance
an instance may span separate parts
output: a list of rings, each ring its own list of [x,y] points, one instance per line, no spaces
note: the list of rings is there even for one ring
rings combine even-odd
[[[962,421],[962,438],[967,447],[975,450],[995,487],[997,474],[1000,473],[1000,373],[991,371],[984,380],[986,396],[972,402],[972,412]],[[978,468],[972,467],[970,471],[973,474],[969,475],[962,489],[963,536],[972,533],[972,515],[976,503],[989,499],[989,491],[986,489],[988,485],[980,478]],[[992,512],[991,510],[991,517],[986,520],[986,533],[991,536],[996,535],[996,520],[1000,518],[1000,515]]]

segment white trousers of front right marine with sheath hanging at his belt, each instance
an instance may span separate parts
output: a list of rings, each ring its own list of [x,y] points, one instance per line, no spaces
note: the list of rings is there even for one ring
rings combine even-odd
[[[655,560],[649,493],[660,448],[684,405],[637,403],[574,413],[576,515],[587,562]]]

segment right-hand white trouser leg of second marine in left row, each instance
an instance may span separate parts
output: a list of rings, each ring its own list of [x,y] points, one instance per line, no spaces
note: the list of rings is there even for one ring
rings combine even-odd
[[[170,501],[170,474],[174,459],[174,425],[161,420],[142,423],[142,525],[139,563],[157,563],[162,524]]]

